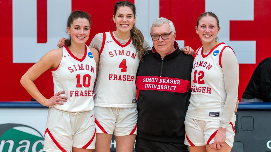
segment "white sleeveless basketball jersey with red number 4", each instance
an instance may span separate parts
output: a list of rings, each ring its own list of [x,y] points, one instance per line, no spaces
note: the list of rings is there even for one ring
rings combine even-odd
[[[131,39],[120,44],[112,32],[103,33],[99,52],[99,73],[95,87],[95,106],[132,108],[137,106],[135,77],[138,53]]]

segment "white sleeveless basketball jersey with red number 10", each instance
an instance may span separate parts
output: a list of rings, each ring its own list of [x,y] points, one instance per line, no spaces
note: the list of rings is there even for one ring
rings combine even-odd
[[[57,68],[52,69],[54,93],[65,91],[68,98],[63,105],[55,105],[59,110],[83,112],[94,108],[93,85],[96,78],[96,62],[88,46],[82,59],[74,56],[67,46],[63,46],[63,56]]]

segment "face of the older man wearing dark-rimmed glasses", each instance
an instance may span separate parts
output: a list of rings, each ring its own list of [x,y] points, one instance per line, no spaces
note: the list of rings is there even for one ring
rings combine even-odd
[[[151,35],[161,35],[168,34],[171,32],[170,26],[168,23],[163,23],[161,26],[152,27]],[[155,50],[161,55],[162,59],[167,54],[171,53],[174,50],[174,41],[175,41],[176,33],[169,34],[169,38],[164,40],[161,36],[158,40],[152,40],[153,46]]]

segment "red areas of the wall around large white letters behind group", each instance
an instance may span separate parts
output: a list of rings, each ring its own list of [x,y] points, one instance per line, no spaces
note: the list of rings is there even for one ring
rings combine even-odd
[[[90,43],[90,40],[95,34],[114,30],[114,24],[111,22],[111,18],[116,1],[117,0],[80,0],[79,2],[72,0],[72,11],[83,10],[92,15],[90,38],[87,44]],[[134,1],[131,0],[131,2]],[[37,0],[37,3],[39,15],[46,17],[46,9],[44,9],[46,1]],[[39,10],[39,8],[41,9]],[[0,32],[0,42],[2,46],[0,60],[0,101],[30,101],[32,97],[21,86],[20,78],[33,64],[12,63],[12,0],[1,0],[0,10],[2,12],[0,15],[2,27]],[[204,0],[160,0],[160,17],[166,17],[172,20],[176,27],[177,40],[185,40],[185,45],[190,45],[194,49],[201,46],[194,26],[196,25],[197,17],[204,11]],[[44,23],[38,20],[38,24],[43,25]],[[230,21],[230,40],[256,41],[256,64],[239,64],[239,100],[255,67],[260,61],[271,56],[268,47],[268,43],[270,43],[271,40],[270,25],[271,1],[269,0],[254,1],[254,21]],[[40,34],[42,37],[43,33]],[[44,41],[42,38],[39,40],[41,42]],[[53,95],[51,71],[46,71],[41,75],[35,81],[35,84],[45,97],[49,98]]]

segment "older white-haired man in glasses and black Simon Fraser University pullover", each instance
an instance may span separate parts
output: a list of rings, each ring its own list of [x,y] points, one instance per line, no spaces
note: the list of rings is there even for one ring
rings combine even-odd
[[[150,28],[153,47],[138,67],[138,127],[135,150],[188,151],[184,118],[190,98],[193,56],[175,41],[173,23],[163,17]]]

